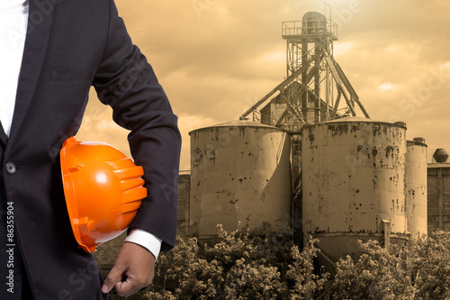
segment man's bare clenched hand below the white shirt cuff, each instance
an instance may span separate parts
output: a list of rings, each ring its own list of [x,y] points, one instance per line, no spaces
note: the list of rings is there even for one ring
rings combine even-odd
[[[103,293],[112,287],[118,295],[130,296],[148,286],[155,275],[155,257],[138,244],[125,241],[115,259],[114,267],[104,279]]]

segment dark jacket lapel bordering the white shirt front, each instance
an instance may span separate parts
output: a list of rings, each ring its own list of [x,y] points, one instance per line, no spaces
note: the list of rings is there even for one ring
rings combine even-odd
[[[17,86],[13,123],[6,147],[11,148],[19,134],[25,114],[30,106],[32,96],[40,77],[40,69],[45,58],[47,43],[57,0],[31,0],[28,29],[23,50],[23,61]]]

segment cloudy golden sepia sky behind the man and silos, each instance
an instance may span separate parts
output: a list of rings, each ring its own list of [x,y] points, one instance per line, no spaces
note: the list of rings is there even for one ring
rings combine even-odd
[[[450,1],[328,0],[338,23],[335,59],[373,119],[403,121],[424,137],[428,160],[450,151]],[[116,0],[130,36],[165,87],[184,138],[236,120],[286,75],[284,21],[317,11],[320,0]],[[326,13],[325,13],[326,7]],[[127,152],[127,132],[91,93],[79,140]],[[129,153],[129,152],[127,152]]]

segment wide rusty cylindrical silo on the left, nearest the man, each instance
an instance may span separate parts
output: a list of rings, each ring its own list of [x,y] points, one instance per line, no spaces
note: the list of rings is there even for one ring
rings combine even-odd
[[[289,227],[290,139],[286,132],[247,121],[190,132],[191,234]]]

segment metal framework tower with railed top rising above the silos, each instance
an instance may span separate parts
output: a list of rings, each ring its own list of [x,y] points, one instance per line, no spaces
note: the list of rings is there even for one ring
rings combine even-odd
[[[282,36],[287,42],[287,77],[240,119],[253,113],[256,122],[298,132],[304,124],[356,116],[356,106],[369,118],[333,58],[338,25],[323,14],[310,12],[303,15],[302,21],[284,22],[282,26]],[[270,103],[258,111],[269,99]]]

